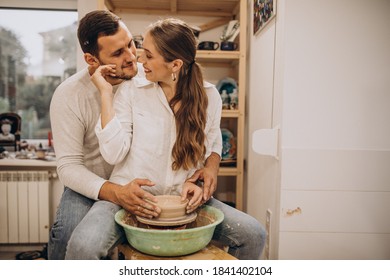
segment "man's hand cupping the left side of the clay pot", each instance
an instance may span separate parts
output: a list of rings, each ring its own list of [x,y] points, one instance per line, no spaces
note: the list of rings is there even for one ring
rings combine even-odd
[[[161,213],[161,209],[148,202],[157,202],[157,199],[144,191],[141,186],[154,186],[154,183],[148,179],[134,179],[124,186],[106,182],[100,190],[99,199],[118,204],[137,216],[148,219],[157,217]]]

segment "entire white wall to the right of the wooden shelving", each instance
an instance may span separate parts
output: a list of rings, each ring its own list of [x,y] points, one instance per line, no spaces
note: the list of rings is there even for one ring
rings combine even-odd
[[[386,0],[279,0],[276,21],[252,38],[250,67],[260,70],[251,71],[248,136],[282,127],[280,163],[248,152],[248,210],[262,220],[266,207],[280,211],[271,258],[390,257],[389,12]],[[273,90],[259,85],[272,77]],[[270,176],[275,165],[280,175]]]

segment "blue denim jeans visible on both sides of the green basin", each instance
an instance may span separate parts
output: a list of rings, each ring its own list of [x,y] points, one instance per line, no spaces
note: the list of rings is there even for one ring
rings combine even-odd
[[[215,229],[213,240],[228,246],[229,253],[238,259],[259,259],[266,239],[263,225],[217,199],[212,198],[206,204],[225,215]],[[105,258],[113,247],[126,240],[123,229],[114,220],[120,209],[116,204],[94,201],[65,187],[50,230],[49,259]]]

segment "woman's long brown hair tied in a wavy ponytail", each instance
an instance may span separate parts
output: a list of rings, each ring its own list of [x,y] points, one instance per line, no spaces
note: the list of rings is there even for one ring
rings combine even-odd
[[[173,18],[154,23],[148,32],[166,62],[183,61],[176,93],[169,102],[171,108],[180,102],[175,113],[176,142],[172,149],[172,169],[196,168],[200,162],[203,163],[206,153],[204,130],[208,105],[202,70],[195,61],[196,38],[186,23]]]

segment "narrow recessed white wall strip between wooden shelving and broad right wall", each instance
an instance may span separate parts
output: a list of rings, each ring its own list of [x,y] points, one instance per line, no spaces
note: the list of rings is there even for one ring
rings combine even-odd
[[[277,90],[276,20],[272,19],[261,31],[253,35],[253,2],[248,4],[249,38],[249,93],[247,94],[247,212],[266,224],[266,211],[270,210],[270,251],[266,248],[262,258],[277,258],[278,213],[280,200],[280,161],[274,157],[258,155],[252,150],[252,134],[258,129],[272,129],[281,124]],[[279,22],[283,17],[277,9]],[[279,36],[280,37],[280,36]],[[278,41],[279,43],[279,41]],[[280,70],[278,70],[280,72]],[[269,252],[267,252],[269,251]]]

